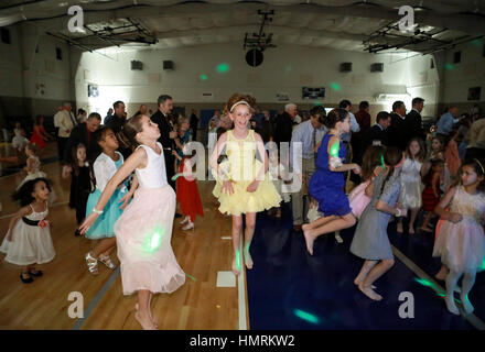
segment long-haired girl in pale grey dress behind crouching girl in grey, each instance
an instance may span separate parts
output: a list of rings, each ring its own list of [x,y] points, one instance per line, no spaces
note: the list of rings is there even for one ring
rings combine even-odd
[[[424,142],[421,139],[412,139],[406,150],[406,160],[401,168],[401,190],[399,205],[403,209],[411,210],[409,220],[409,234],[414,234],[414,221],[422,206],[423,184],[421,182],[421,168],[425,158]],[[397,221],[397,232],[402,233],[402,219]]]

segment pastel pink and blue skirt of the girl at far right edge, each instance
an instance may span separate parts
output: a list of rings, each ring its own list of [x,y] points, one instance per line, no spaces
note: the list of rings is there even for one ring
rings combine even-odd
[[[462,221],[442,222],[433,248],[433,256],[454,272],[476,272],[485,256],[485,237],[482,226],[464,216]]]

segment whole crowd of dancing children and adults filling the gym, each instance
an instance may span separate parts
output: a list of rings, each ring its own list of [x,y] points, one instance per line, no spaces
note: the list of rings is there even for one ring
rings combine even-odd
[[[99,240],[85,255],[87,270],[99,274],[99,263],[115,270],[110,254],[117,248],[123,294],[138,293],[136,318],[143,329],[157,328],[152,295],[185,282],[170,243],[174,218],[182,218],[180,226],[188,231],[197,216],[204,217],[194,175],[198,158],[190,148],[197,135],[196,111],[190,118],[173,113],[168,95],[157,106],[154,113],[140,106],[128,118],[125,102],[116,101],[103,119],[83,109],[75,117],[65,103],[54,116],[62,175],[71,178],[74,234]],[[485,256],[485,119],[479,111],[460,116],[452,106],[427,131],[423,107],[417,97],[407,113],[405,102],[396,101],[371,125],[367,101],[355,114],[345,99],[328,113],[321,106],[299,112],[288,103],[271,117],[254,97],[233,95],[208,123],[207,147],[213,195],[219,211],[231,217],[234,274],[254,266],[257,213],[281,217],[288,202],[293,230],[302,232],[311,255],[320,235],[335,233],[342,243],[338,231],[356,226],[351,252],[364,264],[354,283],[381,300],[374,283],[394,265],[387,231],[395,219],[398,233],[406,222],[409,235],[435,233],[433,255],[443,264],[436,278],[445,280],[446,307],[457,314],[453,292],[463,276],[463,307],[473,311],[467,295]],[[55,256],[46,220],[53,191],[37,155],[53,136],[42,124],[36,118],[30,141],[15,125],[12,141],[26,155],[26,176],[14,194],[21,209],[0,251],[22,267],[23,283],[41,276],[35,265]]]

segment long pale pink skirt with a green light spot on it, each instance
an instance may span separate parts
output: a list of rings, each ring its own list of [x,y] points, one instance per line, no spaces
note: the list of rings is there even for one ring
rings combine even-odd
[[[175,205],[169,185],[139,188],[115,223],[125,295],[141,289],[170,294],[185,283],[171,245]]]

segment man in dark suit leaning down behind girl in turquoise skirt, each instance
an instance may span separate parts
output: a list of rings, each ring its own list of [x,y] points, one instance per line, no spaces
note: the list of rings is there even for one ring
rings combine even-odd
[[[94,163],[94,158],[97,156],[96,154],[99,151],[94,134],[99,129],[100,124],[101,116],[97,112],[91,112],[87,117],[86,122],[79,123],[73,129],[73,131],[71,131],[69,139],[67,140],[66,147],[64,150],[64,163],[67,164],[67,166],[71,165],[73,147],[76,147],[79,143],[86,146],[87,160],[90,163]]]

